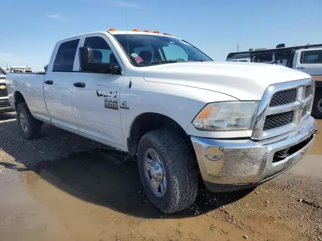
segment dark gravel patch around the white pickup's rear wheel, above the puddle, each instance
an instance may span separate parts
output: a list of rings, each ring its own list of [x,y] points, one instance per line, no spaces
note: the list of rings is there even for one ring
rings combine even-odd
[[[40,162],[54,161],[71,153],[109,148],[48,124],[42,126],[42,136],[35,140],[23,139],[19,131],[16,112],[0,113],[0,160],[5,159],[16,168],[33,168]]]

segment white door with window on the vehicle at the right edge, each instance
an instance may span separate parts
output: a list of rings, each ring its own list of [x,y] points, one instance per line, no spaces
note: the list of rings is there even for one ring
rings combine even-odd
[[[298,50],[296,66],[293,68],[313,77],[322,75],[322,49]]]

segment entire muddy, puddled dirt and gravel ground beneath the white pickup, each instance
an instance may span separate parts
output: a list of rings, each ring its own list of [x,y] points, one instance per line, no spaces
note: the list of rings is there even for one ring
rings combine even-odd
[[[278,179],[252,191],[203,189],[191,208],[165,215],[124,154],[49,125],[24,140],[13,114],[0,114],[1,241],[322,240],[322,134]]]

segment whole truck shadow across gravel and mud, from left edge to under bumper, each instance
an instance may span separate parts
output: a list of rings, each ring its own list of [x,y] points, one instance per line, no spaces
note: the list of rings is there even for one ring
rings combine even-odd
[[[137,163],[125,161],[127,156],[124,153],[106,149],[108,147],[104,145],[49,125],[43,127],[40,139],[30,141],[21,137],[17,121],[0,123],[0,132],[2,150],[26,168],[7,164],[5,160],[0,160],[0,165],[20,172],[32,170],[79,199],[132,216],[183,218],[199,215],[243,198],[250,192],[212,193],[203,189],[191,208],[165,215],[148,201]],[[73,152],[77,154],[70,154]]]

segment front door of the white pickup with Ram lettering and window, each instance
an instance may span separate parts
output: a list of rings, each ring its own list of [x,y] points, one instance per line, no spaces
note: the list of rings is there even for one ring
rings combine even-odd
[[[108,38],[103,34],[85,37],[84,47],[93,49],[95,62],[116,63],[116,52],[112,51]],[[122,75],[110,73],[75,73],[73,102],[79,132],[105,141],[123,145],[120,120],[120,87]],[[112,145],[113,146],[113,145]]]

